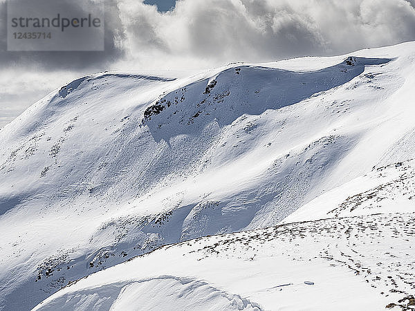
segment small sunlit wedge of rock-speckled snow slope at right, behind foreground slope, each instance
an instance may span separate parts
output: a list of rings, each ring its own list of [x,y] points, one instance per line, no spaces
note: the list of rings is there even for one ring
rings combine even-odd
[[[415,208],[415,160],[374,167],[340,187],[318,196],[297,209],[282,223],[361,216],[407,213]]]

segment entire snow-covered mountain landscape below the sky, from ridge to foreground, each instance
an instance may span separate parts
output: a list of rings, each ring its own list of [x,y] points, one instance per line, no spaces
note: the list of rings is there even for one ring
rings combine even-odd
[[[194,238],[38,308],[412,308],[414,68],[409,42],[51,93],[0,130],[0,308]]]

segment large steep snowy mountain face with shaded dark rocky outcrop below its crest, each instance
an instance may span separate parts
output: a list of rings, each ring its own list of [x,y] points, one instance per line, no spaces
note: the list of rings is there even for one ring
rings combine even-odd
[[[160,245],[275,225],[409,159],[414,51],[103,73],[51,93],[0,131],[0,305],[28,309]]]

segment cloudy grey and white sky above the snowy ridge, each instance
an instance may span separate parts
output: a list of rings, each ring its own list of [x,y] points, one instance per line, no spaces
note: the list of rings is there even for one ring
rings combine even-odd
[[[8,52],[5,1],[0,127],[50,91],[104,70],[183,75],[415,40],[415,0],[106,0],[104,51]],[[95,0],[50,1],[69,12]]]

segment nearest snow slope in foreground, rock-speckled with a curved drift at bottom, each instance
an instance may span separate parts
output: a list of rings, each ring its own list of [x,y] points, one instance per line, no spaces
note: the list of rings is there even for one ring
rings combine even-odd
[[[414,220],[413,213],[355,216],[198,238],[92,274],[34,310],[407,306],[414,302]],[[212,292],[233,299],[232,305],[216,302]]]

